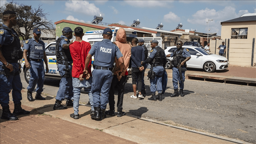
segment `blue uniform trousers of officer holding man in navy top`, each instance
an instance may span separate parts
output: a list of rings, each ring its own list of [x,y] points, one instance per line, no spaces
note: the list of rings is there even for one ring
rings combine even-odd
[[[163,75],[164,73],[164,67],[163,66],[157,66],[153,67],[153,71],[156,73],[156,75]],[[155,76],[154,79],[150,79],[150,91],[151,93],[162,93],[163,87],[162,87],[162,77]]]

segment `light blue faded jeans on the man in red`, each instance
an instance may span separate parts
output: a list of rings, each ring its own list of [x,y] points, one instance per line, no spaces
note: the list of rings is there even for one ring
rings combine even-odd
[[[88,80],[84,78],[83,81],[80,81],[79,78],[74,78],[73,77],[73,92],[74,96],[71,98],[73,100],[73,108],[74,108],[74,113],[78,114],[79,110],[79,99],[80,99],[80,92],[81,89],[84,88],[84,91],[88,92],[89,95],[89,101],[91,104],[91,109],[94,111],[93,108],[93,101],[92,101],[92,90],[91,90],[91,85],[92,85],[92,77],[90,77]]]

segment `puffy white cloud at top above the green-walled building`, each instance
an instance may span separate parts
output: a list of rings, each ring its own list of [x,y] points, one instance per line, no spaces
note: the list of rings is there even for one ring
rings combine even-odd
[[[83,13],[85,15],[104,15],[95,4],[90,4],[89,1],[67,1],[65,6],[66,10]]]

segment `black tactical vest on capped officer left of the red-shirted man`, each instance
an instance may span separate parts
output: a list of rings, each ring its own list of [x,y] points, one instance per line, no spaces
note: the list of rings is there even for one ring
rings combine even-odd
[[[65,62],[70,62],[73,61],[71,54],[70,54],[70,49],[61,49],[61,51],[59,50],[59,45],[60,45],[60,41],[64,39],[62,38],[58,38],[56,41],[56,58],[57,58],[57,62],[58,63],[65,63]],[[68,43],[70,43],[70,41],[68,40]]]

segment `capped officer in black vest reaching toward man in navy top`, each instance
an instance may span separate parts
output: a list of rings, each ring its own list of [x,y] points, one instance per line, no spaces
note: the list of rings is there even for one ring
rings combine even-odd
[[[154,76],[150,78],[150,90],[152,97],[148,98],[148,100],[162,101],[162,76],[166,64],[166,55],[164,53],[164,49],[158,46],[157,40],[151,41],[151,48],[151,53],[148,59],[146,59],[144,62],[141,62],[142,65],[150,63],[151,71],[155,73]],[[156,91],[158,92],[158,96],[156,96]]]

